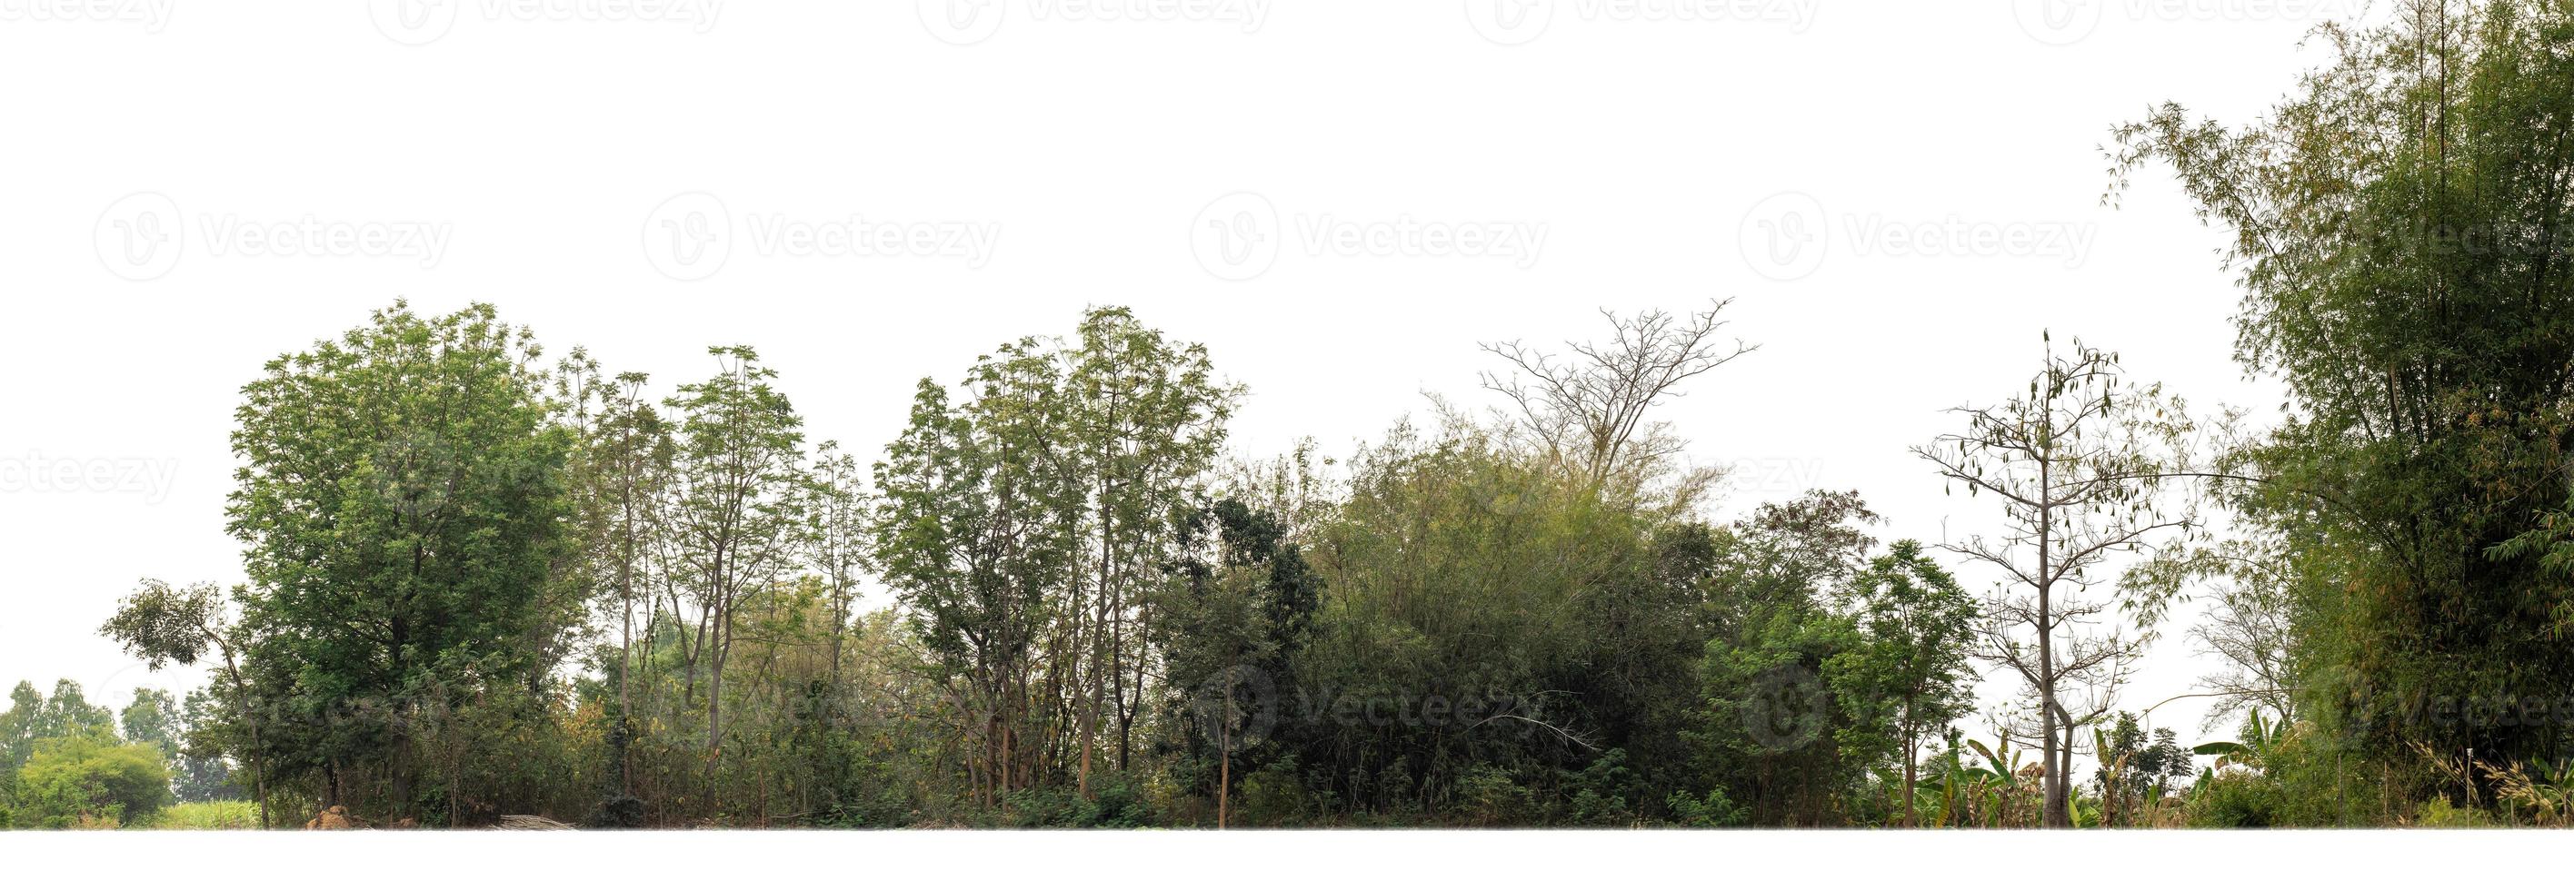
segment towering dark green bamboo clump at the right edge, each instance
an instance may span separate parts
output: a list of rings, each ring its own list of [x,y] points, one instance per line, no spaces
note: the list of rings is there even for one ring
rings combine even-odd
[[[2541,520],[2574,445],[2574,8],[2404,0],[2322,33],[2332,59],[2247,126],[2118,129],[2111,193],[2167,165],[2229,229],[2237,360],[2291,394],[2239,473],[2296,543],[2299,713],[2381,761],[2561,756],[2553,720],[2402,715],[2574,682],[2566,525]]]

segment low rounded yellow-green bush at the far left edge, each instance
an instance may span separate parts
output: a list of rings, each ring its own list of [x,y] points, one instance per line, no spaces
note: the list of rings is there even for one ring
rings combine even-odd
[[[23,828],[103,828],[147,823],[170,805],[170,769],[160,749],[113,738],[54,738],[18,769]]]

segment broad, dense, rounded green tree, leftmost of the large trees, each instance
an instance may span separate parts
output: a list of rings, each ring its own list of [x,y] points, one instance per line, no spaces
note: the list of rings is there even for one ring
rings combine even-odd
[[[414,813],[420,720],[553,669],[530,643],[556,620],[569,435],[538,358],[492,306],[396,304],[242,388],[242,671],[299,718],[263,738],[273,767],[327,803]]]

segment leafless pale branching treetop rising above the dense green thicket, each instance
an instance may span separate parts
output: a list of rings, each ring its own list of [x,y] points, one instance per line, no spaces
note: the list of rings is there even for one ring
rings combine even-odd
[[[1732,301],[1714,301],[1689,316],[1660,309],[1619,316],[1601,309],[1609,342],[1565,342],[1573,358],[1519,340],[1485,342],[1483,350],[1514,370],[1483,373],[1483,386],[1511,399],[1514,432],[1570,466],[1591,489],[1609,478],[1645,478],[1686,445],[1671,435],[1668,422],[1647,422],[1645,414],[1681,396],[1681,383],[1758,350],[1740,340],[1717,342],[1727,324],[1717,322],[1725,306]]]

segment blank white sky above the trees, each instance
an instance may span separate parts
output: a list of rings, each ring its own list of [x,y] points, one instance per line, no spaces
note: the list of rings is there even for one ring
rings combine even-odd
[[[396,298],[497,304],[662,383],[754,345],[862,455],[921,376],[1133,306],[1248,388],[1233,448],[1346,455],[1477,342],[1732,298],[1665,409],[1714,517],[1856,489],[1997,530],[1907,448],[2041,332],[2193,406],[2227,234],[2116,123],[2250,121],[2324,0],[0,0],[0,684],[188,687],[95,635],[242,579],[239,386]],[[1977,589],[1990,579],[1967,574]],[[2126,700],[2208,669],[2178,610]],[[1987,684],[1990,695],[2008,684]],[[2154,713],[2196,741],[2196,702]]]

